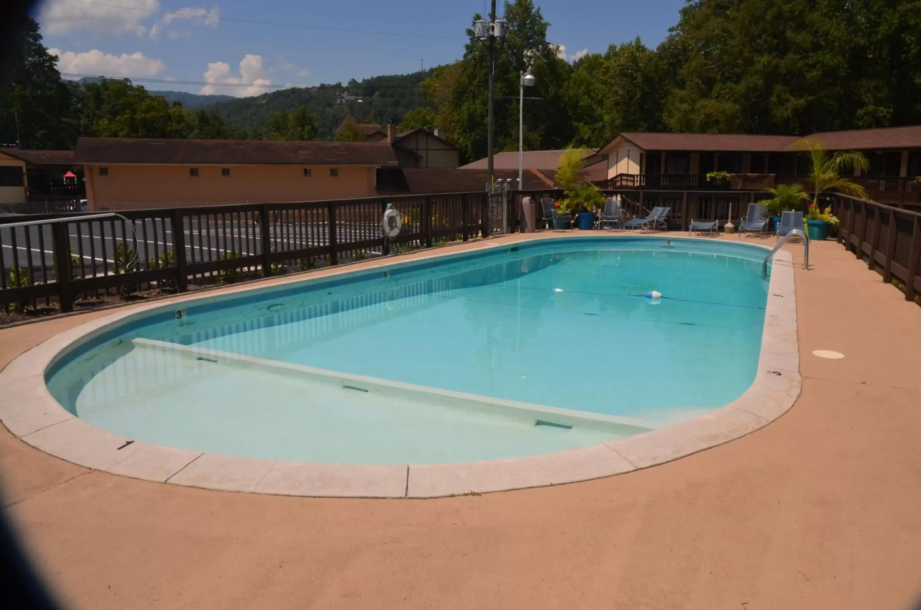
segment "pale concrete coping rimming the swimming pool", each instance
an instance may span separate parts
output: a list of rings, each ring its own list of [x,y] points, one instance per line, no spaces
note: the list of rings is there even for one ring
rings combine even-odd
[[[616,239],[618,236],[608,237]],[[462,251],[558,237],[536,234],[516,242],[484,240]],[[598,235],[569,237],[597,238]],[[661,238],[660,235],[648,237]],[[768,249],[760,244],[750,245]],[[343,270],[276,281],[272,287],[321,281],[403,260],[450,257],[457,252],[447,247],[412,259],[375,259],[368,261],[369,264],[349,265]],[[333,465],[206,454],[134,441],[96,428],[64,409],[45,385],[45,371],[77,341],[89,340],[154,309],[261,290],[266,287],[262,282],[232,287],[220,293],[185,293],[119,311],[64,331],[25,351],[0,372],[0,397],[4,398],[5,405],[0,407],[0,421],[25,443],[76,465],[130,478],[204,489],[309,497],[437,498],[611,477],[728,443],[763,428],[793,406],[799,397],[802,380],[792,263],[789,252],[779,250],[775,254],[758,373],[741,397],[692,420],[580,449],[504,460],[428,465]]]

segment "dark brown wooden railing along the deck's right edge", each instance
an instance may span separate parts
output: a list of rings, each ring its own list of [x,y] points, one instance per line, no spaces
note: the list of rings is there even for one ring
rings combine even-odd
[[[879,271],[883,282],[897,285],[906,300],[921,300],[921,213],[840,194],[822,199],[831,201],[840,220],[838,242]]]

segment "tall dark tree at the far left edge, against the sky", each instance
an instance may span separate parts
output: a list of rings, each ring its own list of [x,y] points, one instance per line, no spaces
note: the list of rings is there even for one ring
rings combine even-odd
[[[72,148],[71,91],[34,19],[23,21],[13,47],[0,63],[0,144],[18,140],[22,148]]]

